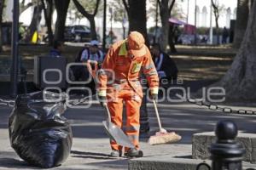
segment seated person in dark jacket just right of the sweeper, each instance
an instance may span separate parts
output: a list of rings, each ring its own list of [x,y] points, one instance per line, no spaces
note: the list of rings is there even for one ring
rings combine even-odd
[[[167,78],[168,80],[177,80],[177,65],[168,54],[161,51],[160,44],[154,43],[150,51],[159,77]]]

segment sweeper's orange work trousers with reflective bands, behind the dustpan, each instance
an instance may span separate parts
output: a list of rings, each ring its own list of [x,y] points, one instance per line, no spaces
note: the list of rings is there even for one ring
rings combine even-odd
[[[139,149],[140,106],[142,99],[133,89],[122,89],[116,93],[114,99],[108,97],[108,109],[111,113],[111,122],[123,127],[123,105],[126,106],[125,133],[131,142]],[[112,150],[122,150],[122,146],[114,140],[110,141]],[[129,148],[125,148],[127,151]]]

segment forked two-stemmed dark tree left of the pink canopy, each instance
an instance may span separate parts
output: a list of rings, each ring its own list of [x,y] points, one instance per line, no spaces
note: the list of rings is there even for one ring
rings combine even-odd
[[[176,52],[174,46],[172,26],[170,27],[169,18],[171,16],[171,11],[174,6],[175,0],[158,0],[160,5],[160,19],[162,23],[162,37],[161,37],[161,48],[166,51],[166,46],[169,40],[169,46],[172,52]]]

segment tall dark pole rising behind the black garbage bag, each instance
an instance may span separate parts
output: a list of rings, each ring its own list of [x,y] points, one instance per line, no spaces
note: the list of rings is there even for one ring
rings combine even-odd
[[[11,66],[11,95],[15,97],[18,89],[19,71],[19,0],[14,0],[13,25],[12,25],[12,66]]]

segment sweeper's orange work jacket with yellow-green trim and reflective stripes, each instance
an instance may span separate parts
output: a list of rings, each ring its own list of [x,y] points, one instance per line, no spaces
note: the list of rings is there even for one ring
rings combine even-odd
[[[102,63],[102,69],[98,71],[98,94],[106,96],[107,88],[113,88],[114,83],[125,81],[143,98],[143,90],[138,83],[141,71],[148,80],[151,93],[158,94],[159,77],[148,48],[144,56],[134,56],[131,59],[125,43],[126,40],[116,42],[109,48]],[[113,71],[114,80],[112,84],[107,85],[107,82],[111,81],[108,75],[109,70]]]

